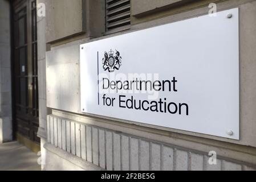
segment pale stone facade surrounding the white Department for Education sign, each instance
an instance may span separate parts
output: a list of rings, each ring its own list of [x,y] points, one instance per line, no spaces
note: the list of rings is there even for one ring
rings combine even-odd
[[[79,45],[160,24],[207,14],[209,3],[217,10],[239,8],[240,127],[241,139],[231,140],[80,112]],[[58,6],[58,1],[48,7]],[[255,36],[256,1],[131,1],[131,27],[104,32],[104,1],[77,1],[73,31],[52,31],[52,21],[63,19],[47,11],[46,105],[47,140],[42,144],[46,170],[255,170]],[[74,6],[75,7],[75,6]],[[64,10],[68,8],[63,7]],[[95,13],[95,11],[97,13]],[[64,15],[66,16],[66,15]],[[72,15],[72,12],[70,13]],[[81,27],[83,17],[84,26]],[[94,22],[95,19],[95,22]],[[48,22],[47,22],[48,21]],[[68,23],[69,19],[67,19]],[[77,21],[77,22],[76,22]],[[99,27],[97,27],[99,25]],[[62,32],[63,31],[63,32]],[[70,32],[71,31],[71,32]],[[114,34],[113,34],[114,33]],[[66,35],[64,37],[63,35]],[[70,35],[70,36],[68,36]],[[45,45],[43,43],[43,45]],[[42,52],[43,54],[44,52]],[[208,163],[209,151],[217,164]],[[51,159],[51,160],[50,160]],[[54,161],[54,162],[53,162]],[[65,166],[62,166],[65,164]]]

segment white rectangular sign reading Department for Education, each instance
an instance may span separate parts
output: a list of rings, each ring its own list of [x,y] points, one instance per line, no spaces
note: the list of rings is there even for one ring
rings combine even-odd
[[[231,9],[82,44],[82,112],[239,139],[238,18]]]

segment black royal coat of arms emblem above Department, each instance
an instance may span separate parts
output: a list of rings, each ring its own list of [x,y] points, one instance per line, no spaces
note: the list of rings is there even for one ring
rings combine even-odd
[[[114,72],[115,69],[119,70],[119,68],[122,65],[121,59],[122,57],[120,56],[120,52],[117,50],[116,50],[116,53],[112,51],[112,49],[110,49],[109,52],[105,52],[104,58],[102,59],[104,71]]]

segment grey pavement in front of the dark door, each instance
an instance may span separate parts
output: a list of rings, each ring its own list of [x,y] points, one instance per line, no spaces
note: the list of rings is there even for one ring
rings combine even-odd
[[[0,171],[40,171],[38,157],[18,142],[0,144]]]

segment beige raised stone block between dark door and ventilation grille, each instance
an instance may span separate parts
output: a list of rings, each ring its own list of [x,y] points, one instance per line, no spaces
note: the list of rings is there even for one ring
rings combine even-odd
[[[46,43],[85,31],[82,0],[46,1]]]

